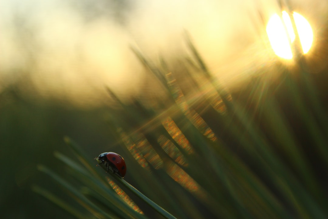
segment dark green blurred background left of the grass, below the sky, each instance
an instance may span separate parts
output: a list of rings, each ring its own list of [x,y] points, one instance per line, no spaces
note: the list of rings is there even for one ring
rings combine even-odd
[[[26,99],[15,85],[3,90],[0,95],[0,168],[4,179],[0,186],[1,217],[61,217],[60,210],[48,215],[53,209],[51,204],[44,203],[31,191],[32,183],[53,185],[40,176],[36,165],[62,168],[53,157],[53,150],[67,152],[62,141],[66,134],[82,137],[81,141],[92,151],[108,145],[111,139],[106,136],[104,115],[104,109],[77,110],[59,102]]]

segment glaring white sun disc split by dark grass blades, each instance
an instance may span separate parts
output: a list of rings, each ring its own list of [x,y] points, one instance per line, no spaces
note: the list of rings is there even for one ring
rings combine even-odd
[[[303,53],[309,52],[313,42],[313,32],[309,22],[300,14],[293,12],[295,26],[301,42]],[[282,12],[282,19],[274,14],[266,28],[272,49],[279,57],[291,59],[293,57],[291,44],[295,40],[295,33],[289,14]]]

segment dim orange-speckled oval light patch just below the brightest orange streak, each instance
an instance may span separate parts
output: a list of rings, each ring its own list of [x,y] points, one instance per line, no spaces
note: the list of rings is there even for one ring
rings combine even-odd
[[[172,143],[169,139],[167,139],[164,135],[159,136],[157,139],[157,142],[165,153],[167,153],[176,163],[187,166],[187,163],[185,161],[185,158],[181,151]]]

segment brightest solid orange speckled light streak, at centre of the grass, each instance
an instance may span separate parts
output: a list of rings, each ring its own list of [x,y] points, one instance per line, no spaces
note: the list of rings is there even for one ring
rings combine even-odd
[[[162,121],[162,124],[166,131],[172,136],[174,141],[178,143],[181,148],[183,148],[188,154],[194,152],[192,146],[190,145],[187,138],[183,135],[181,130],[176,126],[174,121],[171,117],[167,117],[165,120]]]

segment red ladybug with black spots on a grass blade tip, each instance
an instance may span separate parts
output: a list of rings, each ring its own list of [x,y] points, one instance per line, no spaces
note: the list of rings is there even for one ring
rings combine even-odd
[[[98,161],[97,166],[103,164],[102,167],[107,171],[111,168],[116,175],[119,175],[120,177],[125,176],[126,165],[121,155],[114,152],[105,152],[100,154],[96,160]]]

